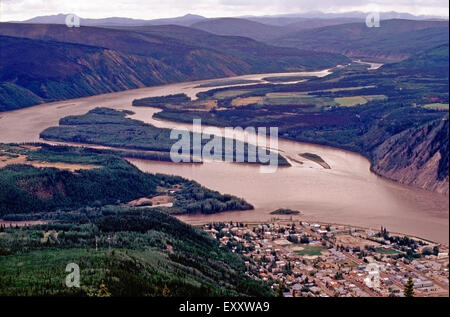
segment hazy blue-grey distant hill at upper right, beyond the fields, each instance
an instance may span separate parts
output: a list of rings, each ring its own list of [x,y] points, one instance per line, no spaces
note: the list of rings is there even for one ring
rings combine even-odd
[[[354,58],[399,61],[448,43],[448,21],[386,20],[379,28],[364,22],[327,26],[286,34],[274,45],[333,52]]]

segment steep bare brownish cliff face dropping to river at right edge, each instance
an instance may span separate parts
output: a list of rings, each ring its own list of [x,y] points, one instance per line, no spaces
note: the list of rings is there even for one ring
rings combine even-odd
[[[402,184],[449,193],[448,117],[394,135],[373,152],[374,172]]]

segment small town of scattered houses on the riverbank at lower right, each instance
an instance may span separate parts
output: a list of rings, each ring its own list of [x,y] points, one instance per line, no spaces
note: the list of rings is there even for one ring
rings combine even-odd
[[[283,297],[448,297],[448,247],[350,226],[274,220],[203,229]]]

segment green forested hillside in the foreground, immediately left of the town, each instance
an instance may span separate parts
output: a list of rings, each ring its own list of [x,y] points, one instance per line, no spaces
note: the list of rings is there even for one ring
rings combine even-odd
[[[80,288],[65,285],[69,263]],[[156,209],[88,208],[0,228],[0,296],[273,295],[244,271],[242,256]]]

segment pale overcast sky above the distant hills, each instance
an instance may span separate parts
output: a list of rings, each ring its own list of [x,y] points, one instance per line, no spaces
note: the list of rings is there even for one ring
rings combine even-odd
[[[83,18],[167,18],[274,15],[345,11],[398,11],[448,17],[448,0],[0,0],[0,21],[74,13]]]

